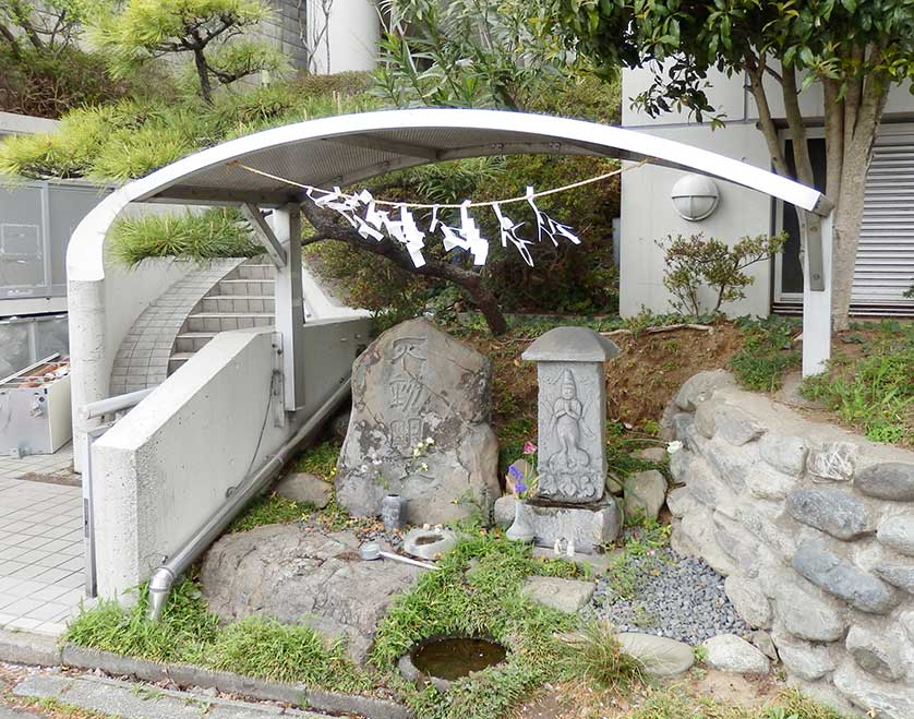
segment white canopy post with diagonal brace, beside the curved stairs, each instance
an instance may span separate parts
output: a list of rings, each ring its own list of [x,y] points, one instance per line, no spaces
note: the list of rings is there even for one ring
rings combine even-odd
[[[301,290],[301,211],[288,204],[274,211],[273,232],[286,250],[276,269],[276,332],[282,336],[286,411],[304,407],[304,305]]]

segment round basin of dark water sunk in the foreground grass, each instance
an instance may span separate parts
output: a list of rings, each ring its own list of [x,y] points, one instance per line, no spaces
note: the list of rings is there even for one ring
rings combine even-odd
[[[431,681],[438,690],[472,672],[501,664],[507,649],[482,637],[432,637],[400,658],[399,669],[410,681]]]

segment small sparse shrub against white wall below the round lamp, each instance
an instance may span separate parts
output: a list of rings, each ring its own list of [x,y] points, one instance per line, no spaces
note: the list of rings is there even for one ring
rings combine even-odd
[[[780,252],[786,235],[744,237],[733,247],[702,233],[684,237],[670,235],[657,242],[665,255],[666,273],[663,286],[673,295],[670,301],[677,312],[690,314],[696,321],[701,315],[701,289],[712,291],[711,314],[717,314],[723,302],[746,297],[745,288],[755,281],[744,269]]]

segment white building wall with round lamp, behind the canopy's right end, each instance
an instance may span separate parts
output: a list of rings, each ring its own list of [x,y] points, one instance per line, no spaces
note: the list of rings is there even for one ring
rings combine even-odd
[[[745,89],[744,77],[727,77],[711,72],[707,88],[710,104],[722,112],[726,125],[711,130],[690,119],[686,111],[673,111],[651,118],[633,108],[632,100],[652,79],[649,70],[625,70],[622,79],[623,127],[685,142],[763,169],[771,169],[765,139],[758,130],[758,110],[751,94]],[[783,118],[783,98],[773,85],[768,93],[772,115]],[[821,87],[814,84],[801,95],[801,108],[810,124],[821,124]],[[889,95],[883,122],[910,119],[914,115],[914,97],[906,87],[894,87]],[[642,167],[622,176],[621,279],[620,311],[623,316],[637,314],[647,308],[653,312],[669,312],[670,295],[663,287],[663,251],[656,240],[668,235],[703,232],[733,243],[746,235],[760,235],[773,229],[773,208],[769,197],[718,182],[721,202],[717,212],[706,220],[689,223],[673,208],[670,191],[684,173],[657,167]],[[731,316],[770,312],[773,263],[761,262],[750,268],[755,284],[746,291],[746,299],[723,305]]]

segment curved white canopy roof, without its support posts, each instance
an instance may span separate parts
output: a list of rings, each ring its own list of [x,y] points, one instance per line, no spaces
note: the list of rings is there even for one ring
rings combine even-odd
[[[301,184],[328,188],[416,165],[531,153],[644,159],[727,180],[820,215],[831,208],[821,193],[806,185],[632,130],[496,110],[386,110],[265,130],[201,151],[123,185],[74,231],[67,252],[68,276],[77,281],[104,278],[105,233],[131,202],[279,206],[304,200],[303,190],[249,172],[238,161]]]

